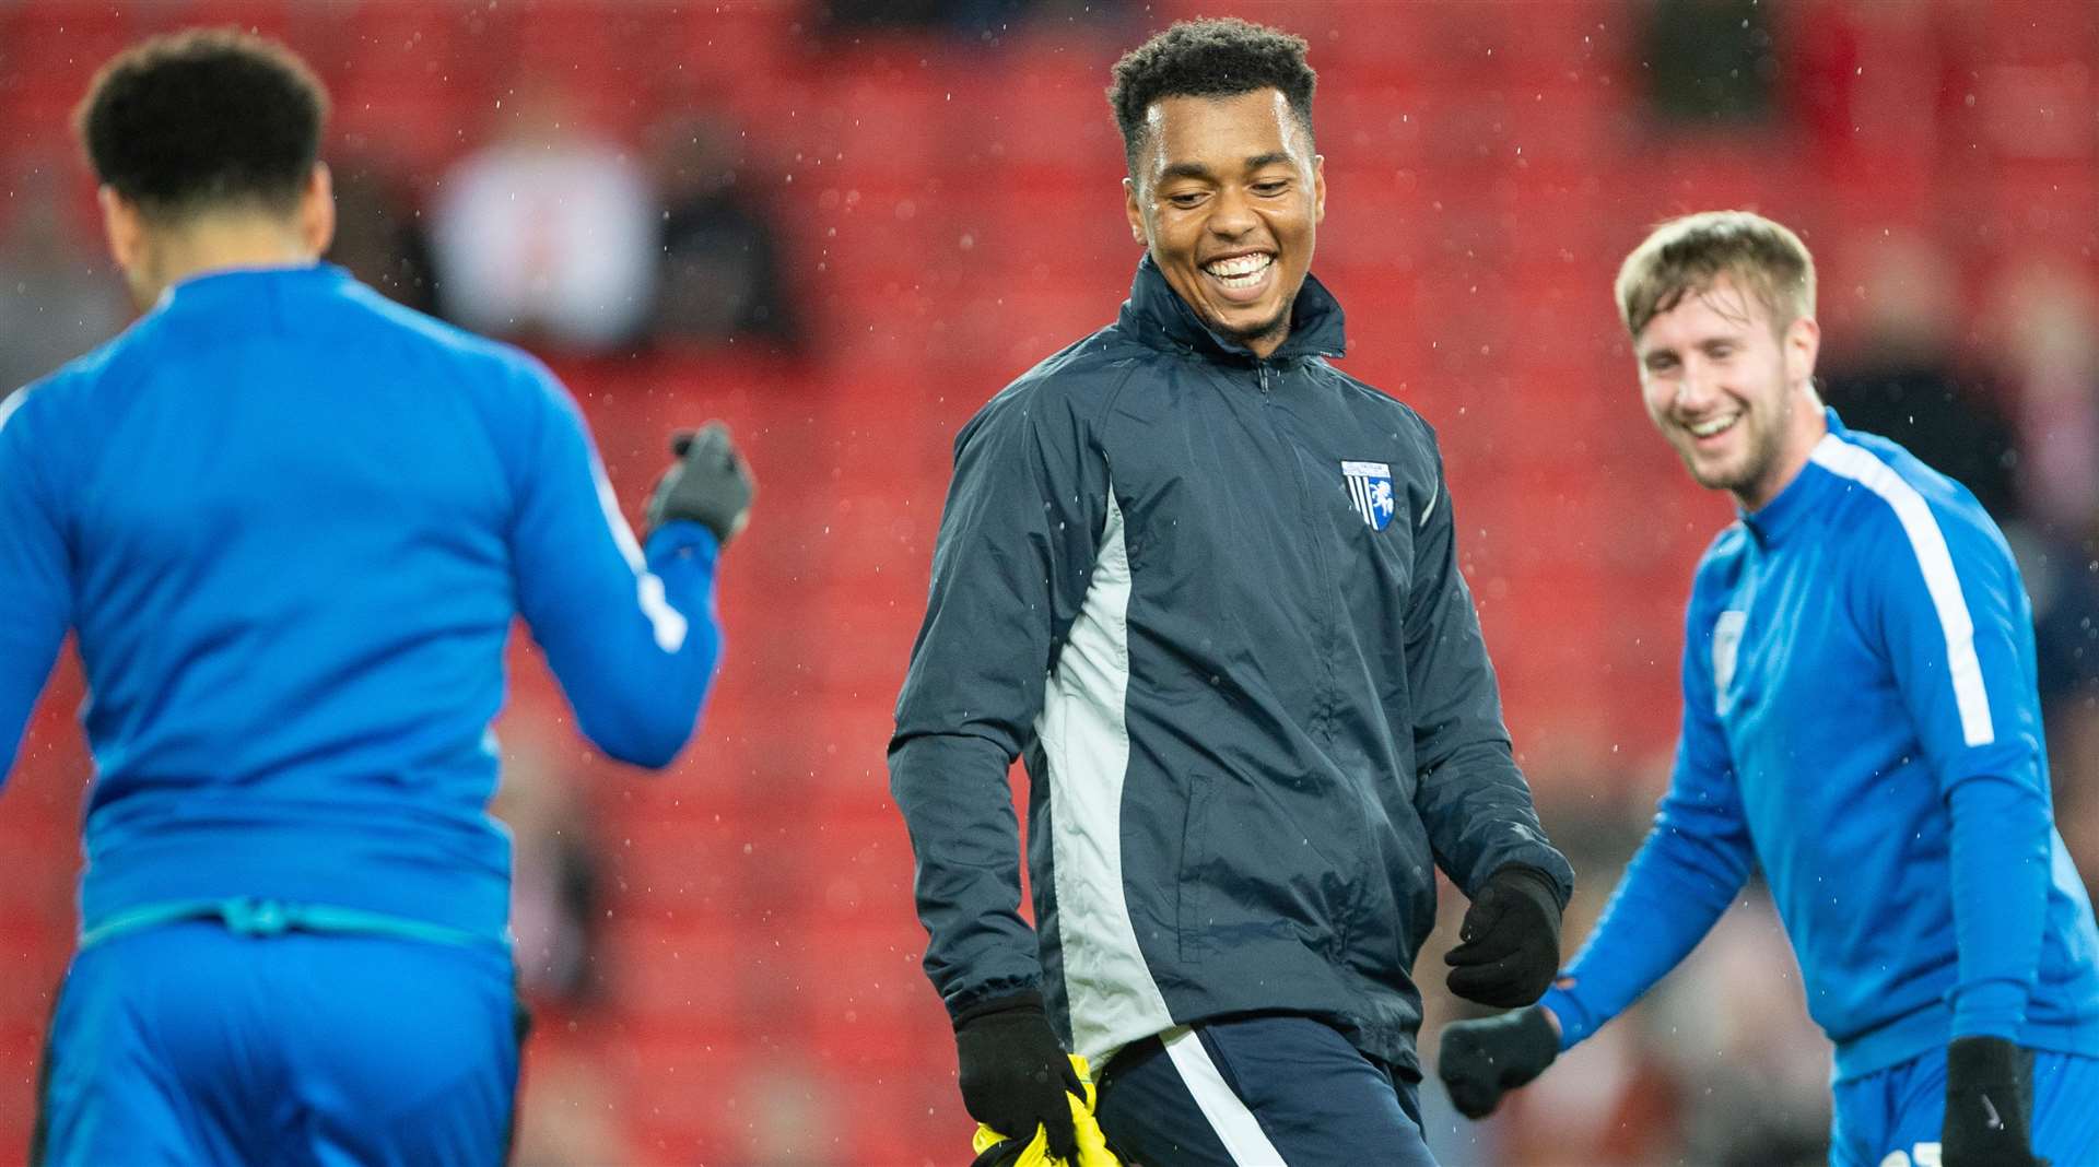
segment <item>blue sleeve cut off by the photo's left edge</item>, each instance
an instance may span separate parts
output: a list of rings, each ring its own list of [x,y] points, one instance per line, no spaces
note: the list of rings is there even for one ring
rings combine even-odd
[[[0,399],[0,785],[71,623],[71,556],[57,495],[38,466],[29,388]]]

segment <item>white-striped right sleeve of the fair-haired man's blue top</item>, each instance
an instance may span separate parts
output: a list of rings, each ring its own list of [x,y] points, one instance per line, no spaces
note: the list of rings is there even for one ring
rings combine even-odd
[[[1981,514],[1885,491],[1870,628],[1952,821],[1954,1037],[2017,1039],[2040,970],[2053,825],[2019,569]]]

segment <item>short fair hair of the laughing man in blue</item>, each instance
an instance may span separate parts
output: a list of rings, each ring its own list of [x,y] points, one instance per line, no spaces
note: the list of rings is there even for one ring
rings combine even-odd
[[[1774,332],[1816,315],[1816,260],[1799,235],[1746,210],[1706,210],[1662,222],[1625,256],[1616,283],[1625,332],[1637,338],[1721,275],[1765,306]]]

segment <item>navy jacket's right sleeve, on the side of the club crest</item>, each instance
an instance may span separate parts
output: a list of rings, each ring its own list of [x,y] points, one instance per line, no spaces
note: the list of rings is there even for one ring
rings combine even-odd
[[[1434,445],[1429,449],[1434,455]],[[1406,609],[1415,810],[1436,863],[1467,896],[1501,867],[1520,863],[1551,877],[1564,907],[1574,892],[1574,869],[1545,840],[1530,785],[1515,768],[1480,613],[1457,567],[1457,518],[1440,455],[1434,466],[1427,514],[1417,518]]]

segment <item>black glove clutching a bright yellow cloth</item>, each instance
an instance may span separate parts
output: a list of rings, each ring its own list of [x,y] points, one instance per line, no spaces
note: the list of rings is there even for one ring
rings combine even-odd
[[[1022,1144],[1043,1127],[1052,1157],[1079,1154],[1064,1094],[1085,1098],[1085,1085],[1050,1028],[1041,993],[1014,993],[963,1010],[955,1018],[955,1054],[961,1104],[972,1119]]]

